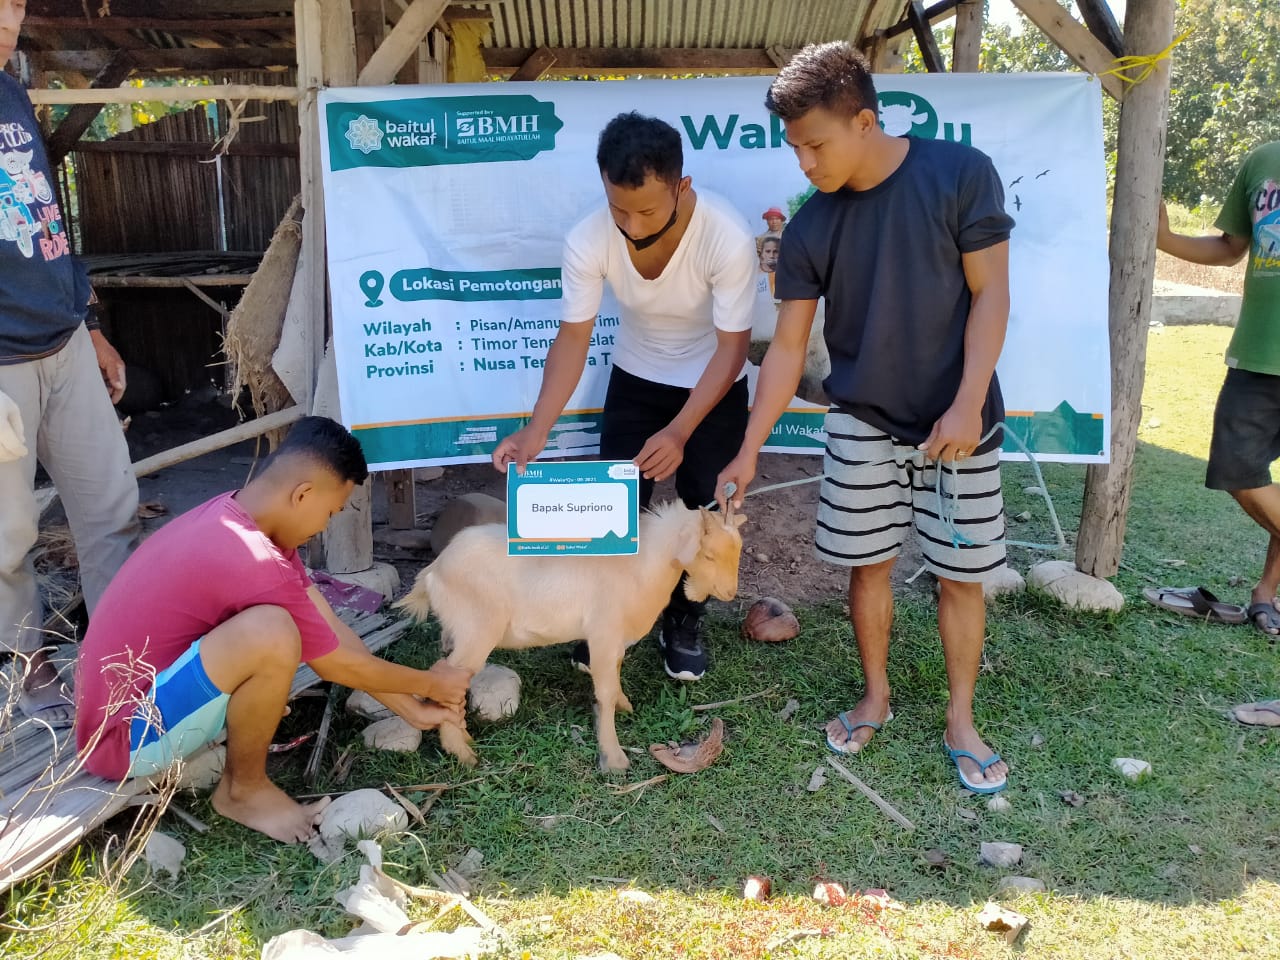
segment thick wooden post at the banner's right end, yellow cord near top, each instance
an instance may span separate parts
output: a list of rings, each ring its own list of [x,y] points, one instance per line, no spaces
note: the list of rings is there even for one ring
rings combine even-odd
[[[1172,37],[1174,0],[1129,0],[1126,54],[1155,54]],[[1167,114],[1169,61],[1164,60],[1129,90],[1120,106],[1111,209],[1111,463],[1088,470],[1075,548],[1075,566],[1096,577],[1115,575],[1124,548],[1142,420]]]

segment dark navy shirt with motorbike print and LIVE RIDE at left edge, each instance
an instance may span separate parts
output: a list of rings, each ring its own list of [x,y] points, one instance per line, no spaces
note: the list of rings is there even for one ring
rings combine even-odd
[[[88,293],[31,100],[0,70],[0,364],[61,349],[84,321]]]

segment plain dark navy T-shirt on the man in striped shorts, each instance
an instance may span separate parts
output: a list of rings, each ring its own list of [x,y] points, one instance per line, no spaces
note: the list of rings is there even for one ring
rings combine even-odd
[[[782,232],[774,296],[826,298],[827,396],[919,444],[964,374],[972,298],[960,256],[1009,239],[1014,220],[986,154],[940,140],[908,145],[906,159],[876,187],[805,201]],[[992,376],[983,434],[1004,416]],[[983,449],[1000,442],[997,434]]]

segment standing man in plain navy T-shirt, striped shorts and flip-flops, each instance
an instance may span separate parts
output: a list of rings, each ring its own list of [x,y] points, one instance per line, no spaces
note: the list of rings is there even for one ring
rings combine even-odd
[[[832,408],[815,547],[819,558],[850,567],[865,677],[861,700],[827,724],[827,745],[856,753],[892,718],[890,570],[914,526],[941,585],[951,695],[943,745],[965,787],[1004,790],[1007,765],[973,722],[982,580],[1005,562],[995,370],[1014,224],[1000,179],[972,147],[886,134],[867,61],[849,44],[801,50],[765,105],[818,192],[782,237],[777,333],[742,449],[717,489],[723,498],[732,481],[740,500],[755,476],[759,449],[804,371],[822,297]]]

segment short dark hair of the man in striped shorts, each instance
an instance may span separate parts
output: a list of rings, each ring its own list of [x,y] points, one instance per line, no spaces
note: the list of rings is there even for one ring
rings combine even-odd
[[[783,120],[799,120],[815,106],[847,118],[879,114],[867,58],[842,40],[809,44],[792,56],[769,84],[764,106]]]

